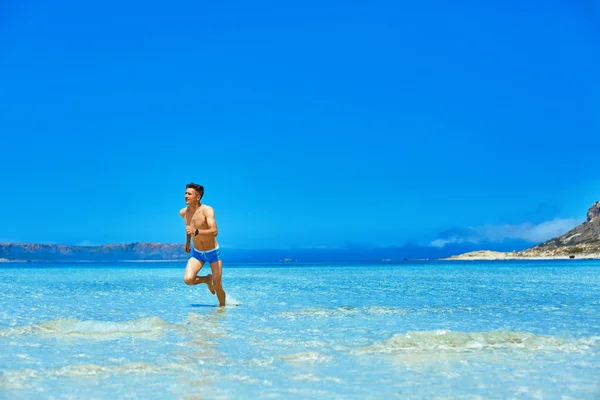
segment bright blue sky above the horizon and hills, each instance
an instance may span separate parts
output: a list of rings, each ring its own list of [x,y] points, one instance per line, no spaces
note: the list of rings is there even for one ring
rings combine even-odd
[[[0,241],[183,242],[190,181],[234,248],[574,226],[599,7],[523,3],[4,1]]]

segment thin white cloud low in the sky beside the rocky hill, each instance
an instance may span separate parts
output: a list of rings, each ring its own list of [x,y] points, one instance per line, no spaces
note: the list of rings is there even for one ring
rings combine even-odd
[[[567,233],[582,222],[577,219],[557,218],[540,224],[525,222],[518,225],[484,225],[479,228],[461,229],[457,233],[446,232],[443,237],[431,242],[430,246],[444,247],[453,243],[479,243],[482,241],[501,242],[506,239],[541,243]]]

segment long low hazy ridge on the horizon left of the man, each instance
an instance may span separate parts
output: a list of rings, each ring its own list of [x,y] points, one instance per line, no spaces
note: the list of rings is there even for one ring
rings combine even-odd
[[[104,246],[54,244],[0,244],[0,260],[19,261],[123,261],[183,260],[183,244],[129,243]]]

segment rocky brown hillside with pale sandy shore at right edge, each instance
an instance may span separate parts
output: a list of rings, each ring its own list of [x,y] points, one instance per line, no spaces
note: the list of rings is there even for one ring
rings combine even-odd
[[[452,260],[497,260],[522,258],[600,258],[600,201],[592,205],[584,223],[562,236],[529,249],[501,253],[476,251],[450,257]]]

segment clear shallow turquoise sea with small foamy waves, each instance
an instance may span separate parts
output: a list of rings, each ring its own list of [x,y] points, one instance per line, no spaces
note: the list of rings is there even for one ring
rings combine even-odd
[[[184,267],[1,263],[0,399],[600,399],[598,261]]]

